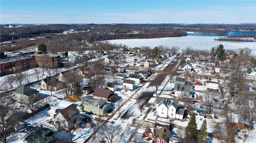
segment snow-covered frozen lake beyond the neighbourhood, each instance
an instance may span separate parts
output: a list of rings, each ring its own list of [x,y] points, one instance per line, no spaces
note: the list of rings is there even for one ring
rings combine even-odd
[[[151,48],[157,47],[159,45],[163,46],[178,46],[181,49],[186,47],[191,47],[193,49],[212,49],[212,47],[217,47],[218,45],[224,45],[224,49],[240,49],[240,48],[250,48],[252,53],[256,55],[256,42],[231,42],[231,41],[216,41],[218,36],[195,36],[188,35],[182,37],[165,37],[165,38],[153,38],[153,39],[117,39],[108,40],[110,43],[122,43],[123,45],[128,45],[128,47],[141,47],[149,46]]]

